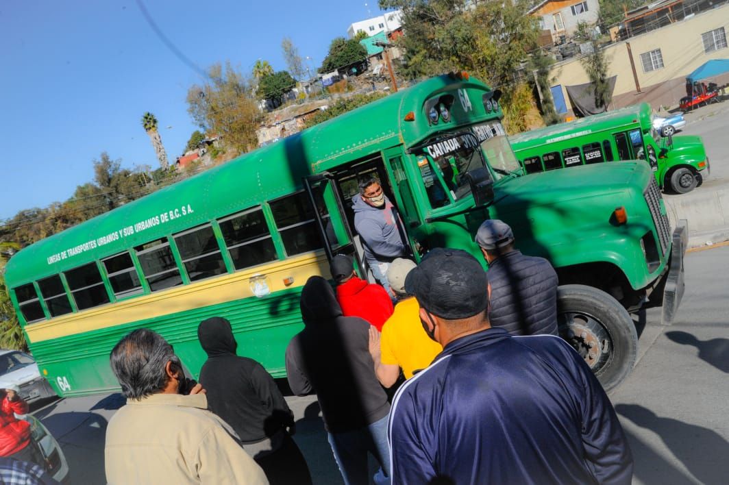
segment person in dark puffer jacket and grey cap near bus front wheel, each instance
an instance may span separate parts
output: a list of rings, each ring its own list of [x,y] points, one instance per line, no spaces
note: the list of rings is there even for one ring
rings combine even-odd
[[[549,261],[521,254],[511,228],[498,219],[481,224],[476,243],[488,263],[491,326],[512,335],[558,335],[558,280]]]

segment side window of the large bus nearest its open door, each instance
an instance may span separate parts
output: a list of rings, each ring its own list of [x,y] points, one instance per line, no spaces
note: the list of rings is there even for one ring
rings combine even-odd
[[[313,208],[305,192],[295,193],[269,203],[281,240],[284,241],[286,255],[293,256],[302,252],[324,247],[316,228]],[[321,211],[326,206],[321,204]]]

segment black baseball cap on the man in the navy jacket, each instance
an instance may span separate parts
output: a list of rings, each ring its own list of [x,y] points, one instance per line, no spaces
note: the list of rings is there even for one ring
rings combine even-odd
[[[488,279],[475,257],[460,249],[429,252],[405,278],[405,291],[445,319],[472,317],[488,308]]]

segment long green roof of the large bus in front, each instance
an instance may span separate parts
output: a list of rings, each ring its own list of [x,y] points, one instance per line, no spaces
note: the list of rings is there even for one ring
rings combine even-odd
[[[6,268],[7,285],[12,288],[68,271],[290,194],[302,187],[303,176],[340,163],[398,144],[413,146],[430,132],[421,109],[426,98],[459,88],[490,90],[475,79],[445,75],[426,79],[31,244],[10,258]],[[403,120],[410,111],[416,113],[415,122]],[[184,216],[168,222],[155,220],[161,214],[174,214],[175,209],[182,213],[183,206]],[[139,223],[150,227],[134,230],[130,236],[119,237],[103,246],[90,247],[94,245],[91,241],[124,228],[134,228]],[[85,256],[69,256],[69,249],[79,246]],[[66,257],[49,260],[64,251]]]

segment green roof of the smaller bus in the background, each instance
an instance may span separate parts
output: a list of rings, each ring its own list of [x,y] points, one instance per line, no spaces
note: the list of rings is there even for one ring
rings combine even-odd
[[[546,126],[537,130],[525,131],[510,136],[509,141],[514,150],[524,147],[534,147],[542,143],[552,143],[570,139],[573,136],[582,136],[596,133],[605,129],[612,129],[622,125],[641,123],[650,128],[651,108],[647,103],[634,104],[614,111],[600,113],[580,118],[567,123]]]

